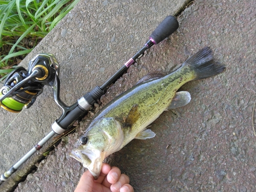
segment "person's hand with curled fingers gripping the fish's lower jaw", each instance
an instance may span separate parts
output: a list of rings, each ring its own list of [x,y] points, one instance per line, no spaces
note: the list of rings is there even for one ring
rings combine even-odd
[[[129,177],[121,174],[118,167],[103,163],[99,178],[94,180],[87,170],[80,178],[75,192],[134,192],[129,182]]]

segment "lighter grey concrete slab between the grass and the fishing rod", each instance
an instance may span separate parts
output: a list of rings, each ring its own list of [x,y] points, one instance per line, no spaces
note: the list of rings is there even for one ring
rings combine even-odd
[[[72,104],[113,75],[165,16],[177,14],[188,2],[81,1],[20,65],[27,67],[38,53],[54,54],[61,66],[60,97]],[[1,133],[5,131],[0,137],[0,173],[4,173],[51,131],[60,110],[52,89],[45,88],[29,110],[18,116],[0,113]]]

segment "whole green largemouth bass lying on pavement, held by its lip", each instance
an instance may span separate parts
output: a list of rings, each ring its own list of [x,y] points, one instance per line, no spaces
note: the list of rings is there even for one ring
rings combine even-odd
[[[188,58],[165,76],[144,76],[134,87],[106,104],[88,123],[70,156],[88,168],[95,180],[102,162],[133,139],[150,139],[155,133],[147,126],[164,111],[186,105],[191,97],[179,88],[188,81],[207,78],[225,70],[214,59],[210,47]]]

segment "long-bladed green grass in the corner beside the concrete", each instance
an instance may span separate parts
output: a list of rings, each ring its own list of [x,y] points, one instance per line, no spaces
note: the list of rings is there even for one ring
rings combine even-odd
[[[0,0],[0,81],[12,71],[15,57],[30,53],[79,0]],[[32,48],[24,39],[34,39]]]

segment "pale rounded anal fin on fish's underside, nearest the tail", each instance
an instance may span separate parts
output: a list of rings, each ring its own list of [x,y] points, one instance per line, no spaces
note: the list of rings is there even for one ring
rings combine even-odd
[[[190,93],[187,91],[177,92],[174,96],[172,102],[167,107],[167,110],[172,110],[175,108],[180,108],[181,106],[186,105],[191,100]]]

